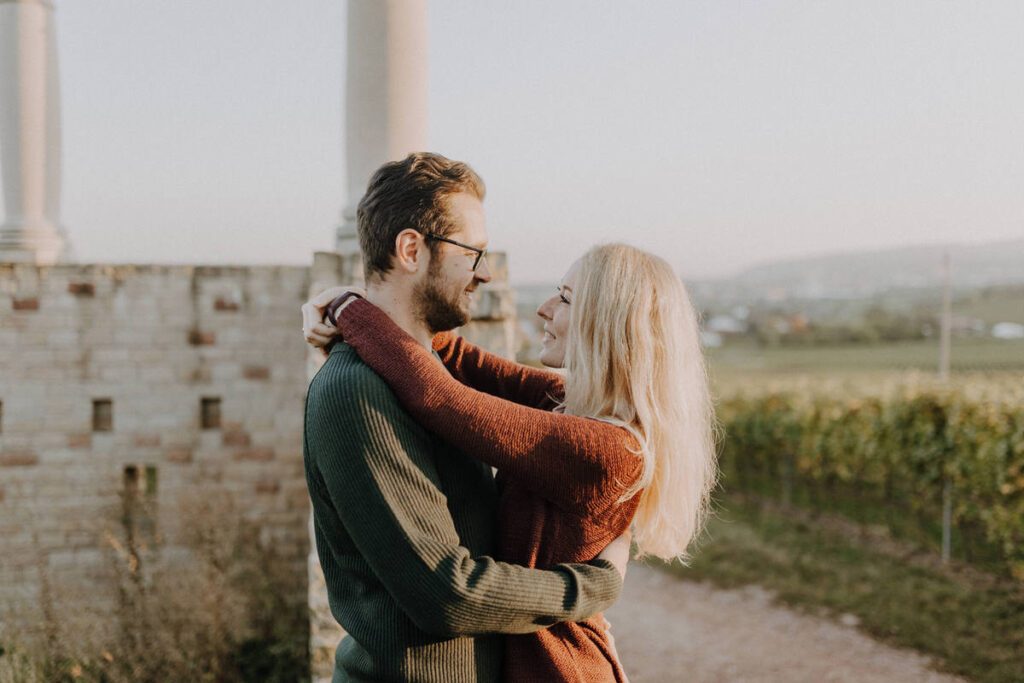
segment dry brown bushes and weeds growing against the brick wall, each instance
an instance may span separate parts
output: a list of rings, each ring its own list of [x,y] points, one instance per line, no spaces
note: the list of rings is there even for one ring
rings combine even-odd
[[[97,583],[59,584],[40,563],[39,604],[0,625],[0,683],[308,678],[295,580],[230,499],[184,502],[173,548],[147,540],[145,505],[98,525]]]

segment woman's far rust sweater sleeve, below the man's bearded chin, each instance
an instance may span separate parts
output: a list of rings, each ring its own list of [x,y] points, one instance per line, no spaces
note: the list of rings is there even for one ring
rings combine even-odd
[[[546,408],[565,393],[558,374],[507,360],[453,332],[436,335],[433,348],[453,377],[492,396]]]

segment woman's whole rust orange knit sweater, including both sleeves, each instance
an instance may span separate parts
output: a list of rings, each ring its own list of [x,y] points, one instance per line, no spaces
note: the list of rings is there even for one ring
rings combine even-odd
[[[639,496],[618,499],[642,472],[635,440],[606,422],[552,412],[558,375],[452,333],[433,341],[445,372],[362,299],[341,311],[338,327],[417,422],[498,469],[497,559],[542,568],[585,562],[629,527]],[[625,681],[600,614],[506,636],[503,672],[514,683]]]

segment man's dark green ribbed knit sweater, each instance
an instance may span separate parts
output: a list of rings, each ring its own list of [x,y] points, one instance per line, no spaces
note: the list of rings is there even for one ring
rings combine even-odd
[[[426,432],[346,344],[306,398],[306,481],[338,681],[498,681],[500,633],[577,622],[622,589],[608,562],[498,562],[489,467]]]

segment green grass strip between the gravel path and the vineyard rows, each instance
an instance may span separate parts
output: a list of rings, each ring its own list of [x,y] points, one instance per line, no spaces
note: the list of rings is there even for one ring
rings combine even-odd
[[[730,496],[687,580],[734,588],[757,584],[812,613],[851,613],[879,640],[910,647],[982,683],[1024,681],[1024,585],[934,556],[849,524]]]

